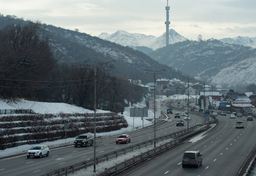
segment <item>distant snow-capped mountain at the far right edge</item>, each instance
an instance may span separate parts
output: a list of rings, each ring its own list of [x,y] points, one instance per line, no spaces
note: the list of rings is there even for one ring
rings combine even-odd
[[[223,43],[251,46],[252,48],[256,48],[256,37],[249,38],[247,36],[237,36],[236,38],[224,38],[220,39]]]

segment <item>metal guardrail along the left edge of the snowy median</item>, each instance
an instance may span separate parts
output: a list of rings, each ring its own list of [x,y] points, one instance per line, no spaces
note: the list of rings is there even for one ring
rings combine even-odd
[[[165,136],[157,137],[156,142],[158,142],[159,140],[163,141],[163,140],[167,140],[168,138],[176,138],[176,137],[185,136],[187,134],[191,134],[191,133],[193,133],[193,131],[196,128],[200,128],[200,127],[202,127],[202,125],[198,124],[196,126],[190,127],[188,129],[188,131],[186,129],[186,130],[177,131],[176,133],[171,133],[171,134],[167,134]],[[204,128],[206,128],[206,126],[204,126]],[[126,154],[130,151],[140,149],[142,147],[147,147],[147,145],[152,145],[153,143],[154,143],[154,140],[147,140],[147,141],[144,141],[144,142],[139,143],[139,144],[134,144],[130,147],[126,147],[126,148],[116,150],[116,151],[113,151],[113,152],[105,154],[105,155],[101,155],[99,157],[96,157],[96,164],[99,164],[102,161],[108,161],[110,158],[118,157],[119,155]],[[94,164],[94,160],[90,159],[90,160],[87,160],[87,161],[83,161],[82,163],[70,165],[69,167],[60,168],[59,170],[48,172],[47,174],[43,174],[42,176],[46,176],[46,175],[47,176],[68,175],[68,173],[71,173],[71,172],[74,173],[75,170],[79,170],[79,169],[82,169],[82,168],[86,169],[88,166],[93,165],[93,164]]]

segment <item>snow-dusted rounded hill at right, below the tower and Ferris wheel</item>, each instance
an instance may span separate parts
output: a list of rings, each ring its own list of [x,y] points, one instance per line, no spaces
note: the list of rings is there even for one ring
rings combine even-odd
[[[256,49],[248,46],[215,39],[186,40],[154,50],[149,56],[190,76],[198,75],[198,80],[226,86],[256,82]]]

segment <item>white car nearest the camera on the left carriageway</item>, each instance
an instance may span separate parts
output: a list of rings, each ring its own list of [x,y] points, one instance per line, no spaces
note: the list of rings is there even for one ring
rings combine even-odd
[[[46,157],[49,157],[49,147],[47,147],[46,145],[33,145],[33,147],[28,150],[28,153],[26,153],[26,157],[28,158],[42,158],[42,155],[46,155]]]

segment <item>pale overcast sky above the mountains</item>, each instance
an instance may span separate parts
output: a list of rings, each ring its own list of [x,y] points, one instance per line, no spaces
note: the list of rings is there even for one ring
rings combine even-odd
[[[159,37],[167,0],[0,0],[0,13],[99,36],[123,30]],[[256,37],[256,0],[169,0],[170,28],[196,40]]]

